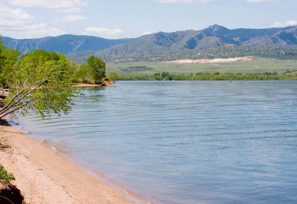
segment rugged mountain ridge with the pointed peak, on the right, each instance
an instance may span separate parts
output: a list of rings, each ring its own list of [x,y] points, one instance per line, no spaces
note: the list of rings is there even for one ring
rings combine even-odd
[[[268,29],[228,29],[213,25],[195,31],[158,32],[143,35],[138,40],[116,45],[96,53],[98,56],[127,55],[162,52],[168,50],[192,50],[195,48],[226,45],[297,45],[297,26]]]

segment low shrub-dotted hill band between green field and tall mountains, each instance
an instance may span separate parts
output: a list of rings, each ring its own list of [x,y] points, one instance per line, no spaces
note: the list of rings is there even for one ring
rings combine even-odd
[[[69,54],[67,57],[78,63],[86,63],[86,58],[97,55],[98,51],[80,51]],[[268,45],[257,45],[248,47],[244,45],[228,45],[208,48],[195,48],[186,50],[168,50],[152,53],[134,53],[123,55],[100,56],[106,62],[125,63],[125,62],[164,62],[178,59],[214,59],[214,58],[234,58],[234,57],[267,57],[275,59],[297,60],[297,50],[272,47]]]

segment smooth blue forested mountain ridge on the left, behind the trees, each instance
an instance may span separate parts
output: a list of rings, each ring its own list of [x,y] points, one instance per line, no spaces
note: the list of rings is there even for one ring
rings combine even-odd
[[[121,43],[132,42],[138,38],[111,40],[87,35],[60,35],[29,39],[2,37],[2,39],[7,48],[18,49],[22,54],[33,49],[70,54],[81,50],[98,51]]]

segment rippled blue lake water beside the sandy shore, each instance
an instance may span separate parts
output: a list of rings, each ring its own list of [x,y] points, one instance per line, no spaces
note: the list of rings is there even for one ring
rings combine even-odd
[[[19,123],[154,203],[297,203],[297,81],[116,84]]]

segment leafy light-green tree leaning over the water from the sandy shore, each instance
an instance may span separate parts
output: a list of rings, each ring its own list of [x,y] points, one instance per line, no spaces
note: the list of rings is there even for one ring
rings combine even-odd
[[[76,89],[69,88],[75,76],[68,76],[67,61],[57,61],[55,57],[48,56],[51,53],[45,52],[42,56],[39,51],[34,51],[12,66],[11,73],[5,77],[10,92],[4,101],[5,106],[0,109],[0,118],[16,112],[25,115],[29,109],[42,118],[50,117],[51,113],[60,115],[61,112],[69,112],[71,98],[78,95]]]

